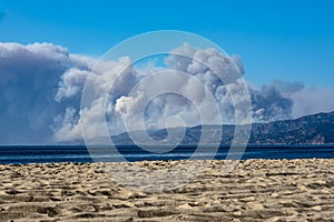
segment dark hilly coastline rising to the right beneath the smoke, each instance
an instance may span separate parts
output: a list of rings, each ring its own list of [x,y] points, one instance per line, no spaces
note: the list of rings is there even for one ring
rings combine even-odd
[[[180,142],[181,145],[196,145],[199,141],[202,132],[206,131],[205,143],[212,144],[218,130],[223,128],[222,145],[229,145],[234,137],[234,125],[197,125],[187,128],[185,135]],[[171,132],[178,129],[169,129]],[[143,138],[139,142],[143,144],[154,145],[153,141],[146,141],[140,137],[144,132],[135,132],[138,138]],[[150,131],[154,140],[160,141],[166,139],[167,130]],[[177,133],[171,133],[177,134]],[[111,137],[117,145],[131,145],[134,142],[128,133]],[[98,140],[97,140],[98,141]],[[171,143],[173,138],[171,138]],[[69,143],[84,143],[84,141],[67,141]],[[284,120],[269,123],[252,124],[249,144],[334,144],[334,112],[317,113],[302,117],[295,120]]]

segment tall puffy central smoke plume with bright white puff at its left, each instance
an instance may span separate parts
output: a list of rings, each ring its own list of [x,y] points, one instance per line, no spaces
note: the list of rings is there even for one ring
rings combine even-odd
[[[122,111],[122,114],[126,114],[125,111],[127,110],[129,112],[127,114],[131,115],[130,118],[138,120],[140,117],[137,117],[137,114],[140,115],[141,113],[139,111],[143,110],[143,100],[140,99],[145,97],[141,92],[145,92],[145,94],[154,94],[153,92],[165,89],[166,91],[179,92],[179,94],[183,95],[188,94],[191,101],[177,94],[155,98],[151,107],[156,109],[150,108],[147,110],[147,117],[149,118],[146,121],[149,127],[165,128],[166,121],[173,115],[183,119],[186,125],[223,123],[219,121],[219,113],[213,109],[212,101],[208,99],[208,92],[199,87],[199,82],[215,94],[217,88],[224,84],[219,77],[230,81],[230,77],[236,75],[236,73],[233,73],[236,72],[236,70],[230,59],[216,49],[202,50],[195,49],[189,44],[184,44],[173,50],[171,53],[173,54],[166,59],[166,64],[174,71],[168,71],[168,73],[159,75],[158,78],[150,78],[150,80],[145,83],[140,82],[141,84],[138,89],[140,93],[135,97],[122,97],[117,100],[116,111],[118,113]],[[187,57],[178,56],[179,53],[186,54]],[[238,57],[234,58],[238,61],[238,69],[243,70]],[[209,70],[204,63],[214,70]],[[187,73],[187,77],[180,73]],[[217,77],[216,73],[218,73],[219,77]],[[194,78],[196,78],[197,81],[194,81]],[[225,105],[220,101],[216,101],[215,103],[218,103],[220,108]],[[206,110],[205,112],[209,118],[204,119],[204,117],[202,117],[200,119],[198,117],[198,110]],[[153,117],[157,118],[153,119]],[[233,118],[226,115],[224,122],[232,123]],[[180,125],[183,125],[183,122],[180,122]],[[140,129],[136,129],[136,124],[131,124],[131,127],[132,130]]]

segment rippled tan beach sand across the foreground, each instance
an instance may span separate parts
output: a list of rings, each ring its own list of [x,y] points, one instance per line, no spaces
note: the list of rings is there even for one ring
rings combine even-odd
[[[0,221],[334,221],[334,159],[246,160],[227,174],[226,161],[206,161],[193,181],[155,192],[119,184],[106,170],[120,176],[116,170],[129,165],[178,163],[0,165]]]

